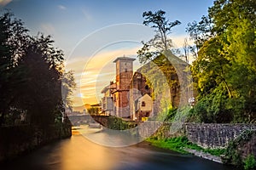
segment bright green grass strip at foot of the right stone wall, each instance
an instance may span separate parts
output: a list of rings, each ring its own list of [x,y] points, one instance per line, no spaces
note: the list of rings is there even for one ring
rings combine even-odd
[[[179,153],[188,154],[184,148],[189,148],[191,150],[203,151],[211,154],[212,156],[221,156],[224,154],[224,149],[204,149],[197,144],[193,144],[189,141],[185,136],[175,137],[171,139],[157,139],[157,138],[149,138],[146,141],[150,142],[152,145],[168,149],[174,150]]]

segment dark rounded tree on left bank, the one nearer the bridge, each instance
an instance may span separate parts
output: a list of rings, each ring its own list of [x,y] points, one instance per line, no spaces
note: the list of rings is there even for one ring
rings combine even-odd
[[[55,110],[61,111],[62,73],[49,62],[48,58],[53,59],[53,56],[45,56],[46,54],[38,48],[40,41],[32,42],[18,65],[26,77],[19,85],[20,97],[17,96],[16,101],[19,104],[17,106],[27,111],[30,122],[44,126],[54,123]]]

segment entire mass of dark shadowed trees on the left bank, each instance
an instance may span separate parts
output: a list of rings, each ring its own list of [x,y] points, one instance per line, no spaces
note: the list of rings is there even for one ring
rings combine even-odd
[[[29,36],[9,12],[0,23],[0,125],[17,113],[44,127],[58,122],[64,112],[61,80],[68,80],[67,88],[75,85],[73,73],[64,71],[62,51],[54,48],[49,36]]]

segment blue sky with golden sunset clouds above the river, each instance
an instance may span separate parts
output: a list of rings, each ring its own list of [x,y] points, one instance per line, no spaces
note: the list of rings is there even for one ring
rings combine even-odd
[[[11,9],[31,35],[51,35],[55,47],[63,50],[66,70],[75,72],[76,106],[99,103],[101,89],[114,79],[113,60],[136,58],[141,42],[154,37],[154,31],[142,25],[144,11],[162,9],[166,19],[179,20],[182,24],[173,27],[170,37],[181,48],[189,38],[188,23],[207,15],[212,4],[213,0],[0,0],[0,8]],[[136,61],[134,70],[140,66]]]

